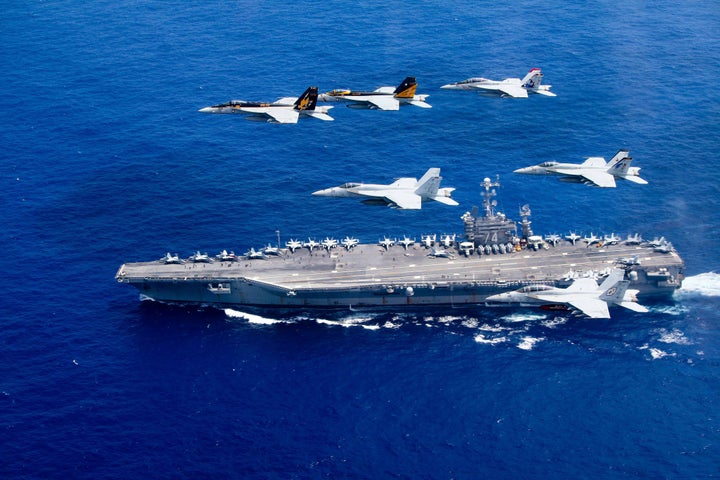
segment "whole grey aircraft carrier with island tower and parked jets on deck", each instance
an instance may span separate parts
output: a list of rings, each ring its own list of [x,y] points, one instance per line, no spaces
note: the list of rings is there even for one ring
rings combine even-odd
[[[462,216],[462,235],[377,244],[293,241],[237,257],[168,254],[125,263],[116,279],[157,301],[263,308],[482,305],[490,295],[535,284],[567,287],[613,268],[625,270],[641,299],[680,288],[685,266],[664,238],[534,235],[528,206],[520,211],[522,221],[510,220],[494,208],[499,182],[486,178],[481,185],[483,208]]]

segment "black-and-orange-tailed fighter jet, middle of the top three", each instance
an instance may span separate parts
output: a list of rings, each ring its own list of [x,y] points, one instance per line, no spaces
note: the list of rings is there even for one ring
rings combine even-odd
[[[399,110],[400,105],[432,108],[425,102],[429,95],[415,95],[415,77],[407,77],[397,88],[380,87],[372,92],[355,92],[347,89],[332,90],[318,96],[321,102],[349,102],[350,108],[371,110]]]

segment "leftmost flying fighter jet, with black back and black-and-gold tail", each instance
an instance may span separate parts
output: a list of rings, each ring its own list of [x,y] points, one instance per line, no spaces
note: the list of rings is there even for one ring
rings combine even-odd
[[[220,105],[201,108],[203,113],[241,113],[248,120],[268,123],[297,123],[300,115],[320,120],[334,120],[328,115],[332,107],[316,107],[317,87],[308,87],[307,90],[296,97],[283,97],[273,103],[246,102],[231,100]]]

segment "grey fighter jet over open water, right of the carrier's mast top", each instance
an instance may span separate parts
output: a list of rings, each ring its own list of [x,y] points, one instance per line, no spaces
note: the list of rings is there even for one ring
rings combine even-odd
[[[647,181],[640,178],[640,168],[630,166],[632,158],[628,156],[629,153],[627,150],[619,150],[608,163],[605,163],[602,157],[590,157],[581,164],[550,161],[519,168],[515,173],[562,175],[560,180],[564,182],[584,183],[603,188],[615,188],[616,178],[646,185]]]

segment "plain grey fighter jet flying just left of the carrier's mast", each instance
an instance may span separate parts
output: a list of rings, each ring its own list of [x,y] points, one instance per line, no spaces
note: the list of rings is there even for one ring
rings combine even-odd
[[[418,181],[415,178],[399,178],[390,185],[371,183],[345,183],[338,187],[326,188],[313,192],[321,197],[361,197],[363,203],[382,204],[405,210],[418,210],[422,202],[435,200],[445,205],[457,205],[450,198],[452,187],[438,188],[440,186],[439,168],[429,169]]]

